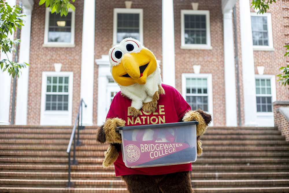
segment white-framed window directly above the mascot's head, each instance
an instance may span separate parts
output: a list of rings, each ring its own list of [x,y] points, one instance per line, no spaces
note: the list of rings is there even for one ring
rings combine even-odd
[[[113,44],[127,37],[143,42],[142,9],[114,9]]]

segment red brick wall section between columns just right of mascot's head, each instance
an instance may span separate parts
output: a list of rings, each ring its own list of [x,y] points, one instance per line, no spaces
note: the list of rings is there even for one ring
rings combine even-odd
[[[210,11],[210,33],[212,50],[181,49],[181,10],[192,10],[192,1],[174,1],[175,21],[175,74],[176,89],[181,93],[181,74],[194,73],[193,65],[201,65],[200,73],[211,73],[213,82],[214,126],[226,124],[224,39],[221,0],[196,1],[198,10]]]

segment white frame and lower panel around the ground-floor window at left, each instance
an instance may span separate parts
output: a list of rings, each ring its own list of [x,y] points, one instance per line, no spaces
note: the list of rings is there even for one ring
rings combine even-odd
[[[47,76],[68,76],[68,111],[46,111]],[[73,72],[42,72],[40,125],[67,125],[72,124]]]

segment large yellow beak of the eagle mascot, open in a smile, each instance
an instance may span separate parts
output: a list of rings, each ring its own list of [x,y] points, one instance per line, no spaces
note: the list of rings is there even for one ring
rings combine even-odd
[[[119,65],[112,67],[112,77],[122,85],[129,86],[135,83],[145,84],[149,76],[157,67],[153,53],[143,48],[139,53],[127,53]]]

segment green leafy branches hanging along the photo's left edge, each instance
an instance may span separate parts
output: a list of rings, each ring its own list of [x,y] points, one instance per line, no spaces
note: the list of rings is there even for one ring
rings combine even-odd
[[[12,30],[16,31],[16,27],[21,29],[21,26],[24,25],[22,17],[25,15],[21,14],[21,8],[18,5],[12,8],[3,0],[0,0],[0,14],[0,49],[8,58],[7,53],[15,52],[15,46],[20,43],[20,39],[11,40],[8,36],[13,33]],[[25,68],[27,65],[27,63],[15,63],[7,59],[0,61],[0,69],[7,70],[13,77],[19,75],[19,69]]]

